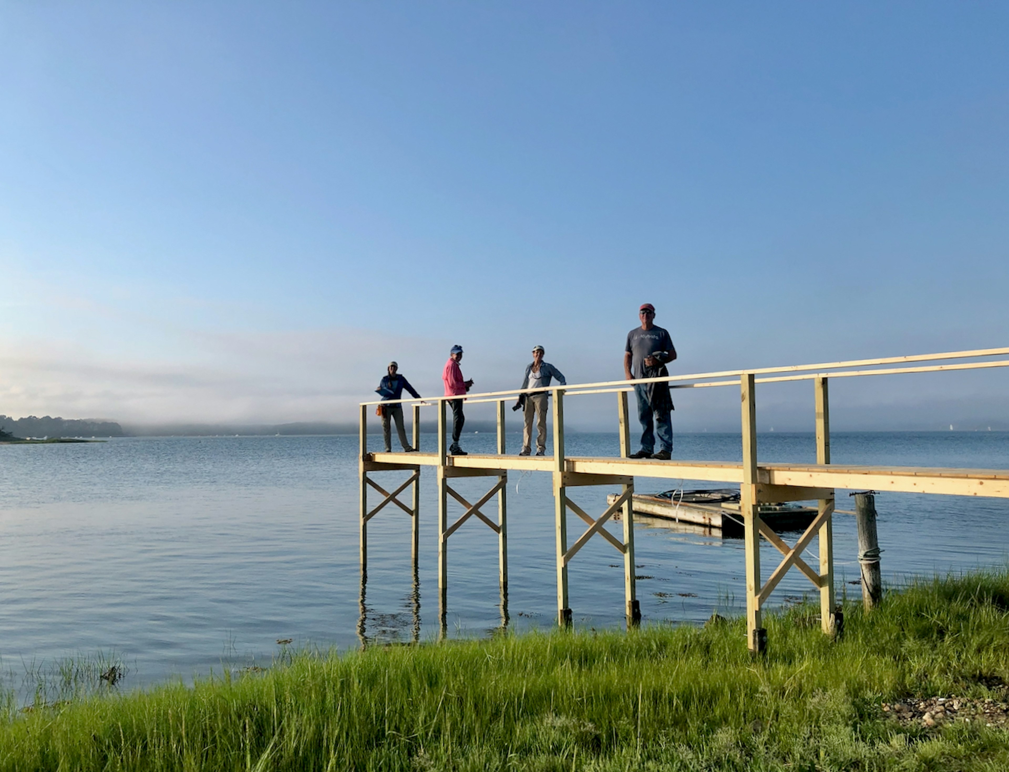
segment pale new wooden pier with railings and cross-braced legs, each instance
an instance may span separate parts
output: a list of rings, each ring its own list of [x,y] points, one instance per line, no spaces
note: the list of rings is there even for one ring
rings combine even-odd
[[[746,544],[747,629],[748,645],[753,651],[763,651],[766,631],[761,624],[761,609],[767,603],[781,578],[791,568],[801,571],[820,592],[822,629],[826,634],[836,633],[843,624],[835,603],[833,578],[832,514],[834,492],[837,489],[856,491],[899,491],[907,493],[945,494],[955,496],[985,496],[1009,498],[1009,470],[973,469],[923,469],[914,467],[869,467],[835,465],[830,463],[830,421],[828,381],[831,378],[868,377],[924,372],[986,369],[1007,367],[1009,360],[991,360],[1005,357],[1007,349],[928,354],[911,357],[893,357],[875,360],[856,360],[814,365],[793,365],[781,368],[763,368],[749,371],[722,371],[694,375],[638,381],[610,381],[605,383],[576,384],[549,389],[553,395],[553,455],[548,457],[522,457],[507,455],[504,442],[506,402],[514,400],[520,390],[472,394],[467,404],[496,403],[497,444],[493,455],[450,456],[447,453],[446,402],[457,397],[436,397],[424,400],[405,399],[413,405],[414,446],[420,447],[421,406],[430,404],[438,412],[438,444],[434,451],[413,454],[369,453],[367,447],[368,413],[374,412],[378,402],[364,402],[360,406],[360,557],[362,580],[367,567],[367,524],[379,511],[394,504],[406,512],[413,521],[413,557],[417,564],[419,550],[420,475],[424,467],[434,467],[438,485],[438,591],[442,630],[445,630],[448,594],[448,539],[464,523],[474,519],[486,525],[497,535],[498,572],[502,598],[508,592],[508,506],[506,486],[510,470],[519,472],[545,472],[553,476],[554,513],[556,531],[557,567],[557,619],[562,626],[571,623],[568,605],[568,563],[593,536],[608,541],[624,557],[624,589],[626,614],[629,626],[641,619],[635,588],[634,561],[634,512],[632,497],[636,476],[670,480],[701,480],[732,483],[740,486],[740,514],[744,521]],[[910,363],[927,362],[911,366]],[[813,386],[815,414],[816,463],[815,464],[761,464],[757,455],[757,397],[756,387],[761,383],[808,380]],[[636,383],[668,381],[670,388],[735,387],[740,390],[743,461],[696,462],[657,461],[630,459],[631,418],[628,409],[628,392]],[[527,393],[531,390],[527,390]],[[616,424],[620,427],[621,456],[584,458],[567,456],[564,446],[564,404],[571,397],[584,394],[612,392],[616,395]],[[384,404],[391,404],[385,402]],[[388,489],[374,479],[376,473],[405,471],[409,475],[402,483]],[[460,495],[451,485],[456,478],[487,478],[487,492],[474,502]],[[619,486],[620,494],[601,513],[592,515],[575,503],[572,495],[586,486]],[[381,501],[369,508],[368,488],[376,491]],[[410,490],[412,501],[406,504],[400,496]],[[496,519],[484,511],[491,499],[496,498]],[[461,515],[450,523],[450,500],[462,507]],[[760,517],[759,507],[766,503],[809,501],[815,502],[817,515],[797,541],[788,544],[767,526]],[[568,512],[584,521],[587,528],[574,539],[568,539]],[[604,525],[621,512],[622,536],[616,536]],[[767,539],[781,553],[782,558],[767,578],[761,569],[760,539]],[[802,559],[807,547],[817,543],[818,564],[813,566]],[[416,567],[415,567],[416,571]],[[416,575],[416,573],[415,573]]]

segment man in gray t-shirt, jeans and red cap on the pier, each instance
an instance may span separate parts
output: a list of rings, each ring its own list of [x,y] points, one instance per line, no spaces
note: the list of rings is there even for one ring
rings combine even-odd
[[[676,359],[676,349],[669,332],[652,324],[655,306],[645,303],[638,312],[641,327],[628,333],[624,353],[624,374],[629,381],[644,378],[645,369],[655,368]],[[668,400],[653,406],[649,384],[636,383],[638,419],[641,421],[641,449],[631,454],[632,459],[660,459],[669,461],[673,453],[673,421]],[[655,452],[655,435],[659,435],[659,453]]]

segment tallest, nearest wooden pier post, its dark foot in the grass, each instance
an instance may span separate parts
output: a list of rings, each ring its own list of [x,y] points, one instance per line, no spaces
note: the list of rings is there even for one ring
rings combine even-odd
[[[740,378],[743,405],[743,485],[740,486],[740,513],[743,515],[747,561],[747,645],[761,653],[767,647],[767,631],[761,626],[760,611],[760,504],[757,498],[757,393],[753,373]]]

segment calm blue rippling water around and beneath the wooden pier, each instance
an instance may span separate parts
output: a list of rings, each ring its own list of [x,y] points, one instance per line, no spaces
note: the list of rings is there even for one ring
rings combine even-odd
[[[265,664],[279,639],[347,648],[360,645],[361,631],[380,641],[434,637],[433,471],[422,478],[419,584],[415,588],[411,568],[410,520],[388,507],[369,527],[362,620],[356,441],[172,437],[0,446],[0,663],[16,671],[22,663],[114,650],[131,668],[129,682],[138,685]],[[424,441],[434,445],[433,436]],[[471,452],[489,451],[492,441],[486,434],[465,438]],[[615,434],[573,434],[568,443],[571,455],[616,455]],[[1009,434],[834,434],[831,454],[838,464],[1007,469]],[[740,439],[681,434],[676,456],[738,460]],[[760,459],[811,462],[812,435],[763,434]],[[386,473],[390,485],[404,475]],[[480,486],[478,480],[458,483],[471,501]],[[672,485],[639,478],[637,487]],[[578,490],[572,497],[598,513],[607,490]],[[854,508],[844,492],[838,508]],[[1007,560],[1009,501],[882,494],[877,509],[890,581]],[[509,523],[510,626],[552,625],[549,475],[513,473]],[[581,529],[571,515],[569,538]],[[859,576],[854,518],[835,517],[834,539],[838,587],[858,597],[860,589],[848,584]],[[501,624],[496,537],[471,521],[449,543],[449,635],[486,635]],[[764,548],[768,573],[777,552]],[[637,553],[646,622],[698,622],[715,610],[742,608],[741,541],[639,524]],[[623,625],[621,565],[602,539],[578,553],[570,567],[576,624]],[[811,589],[792,572],[774,601]]]

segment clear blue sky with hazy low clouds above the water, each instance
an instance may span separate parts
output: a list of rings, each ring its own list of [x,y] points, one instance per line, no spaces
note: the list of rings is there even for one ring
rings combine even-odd
[[[1007,345],[1007,37],[1001,3],[6,3],[0,413],[343,420],[453,343],[480,390],[537,343],[619,378],[644,301],[680,373]],[[1009,425],[1007,386],[835,414]]]

